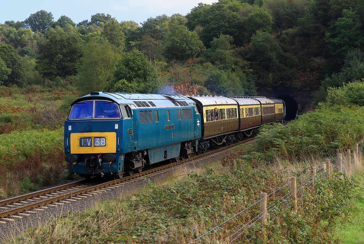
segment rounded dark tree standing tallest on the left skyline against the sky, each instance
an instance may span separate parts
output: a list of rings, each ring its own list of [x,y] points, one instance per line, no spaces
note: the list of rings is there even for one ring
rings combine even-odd
[[[33,32],[46,31],[49,27],[51,27],[53,22],[53,15],[51,12],[47,12],[44,10],[37,11],[36,13],[31,14],[28,19],[24,21],[28,28],[31,28]]]

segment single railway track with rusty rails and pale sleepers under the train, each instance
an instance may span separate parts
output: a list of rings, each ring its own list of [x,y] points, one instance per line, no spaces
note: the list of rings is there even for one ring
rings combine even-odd
[[[90,180],[78,180],[61,186],[5,199],[0,201],[0,223],[6,224],[8,222],[15,221],[15,219],[21,219],[23,216],[29,216],[38,211],[44,211],[49,207],[62,206],[63,204],[87,198],[88,196],[97,195],[122,187],[128,182],[140,179],[142,176],[155,176],[163,172],[174,170],[176,168],[186,166],[189,163],[198,162],[222,152],[229,151],[234,146],[251,143],[253,140],[254,138],[249,138],[245,141],[206,152],[205,154],[196,155],[189,159],[175,163],[164,162],[162,165],[158,164],[159,167],[146,167],[141,173],[126,176],[121,179],[113,179],[102,183],[100,183],[99,180],[96,184]]]

